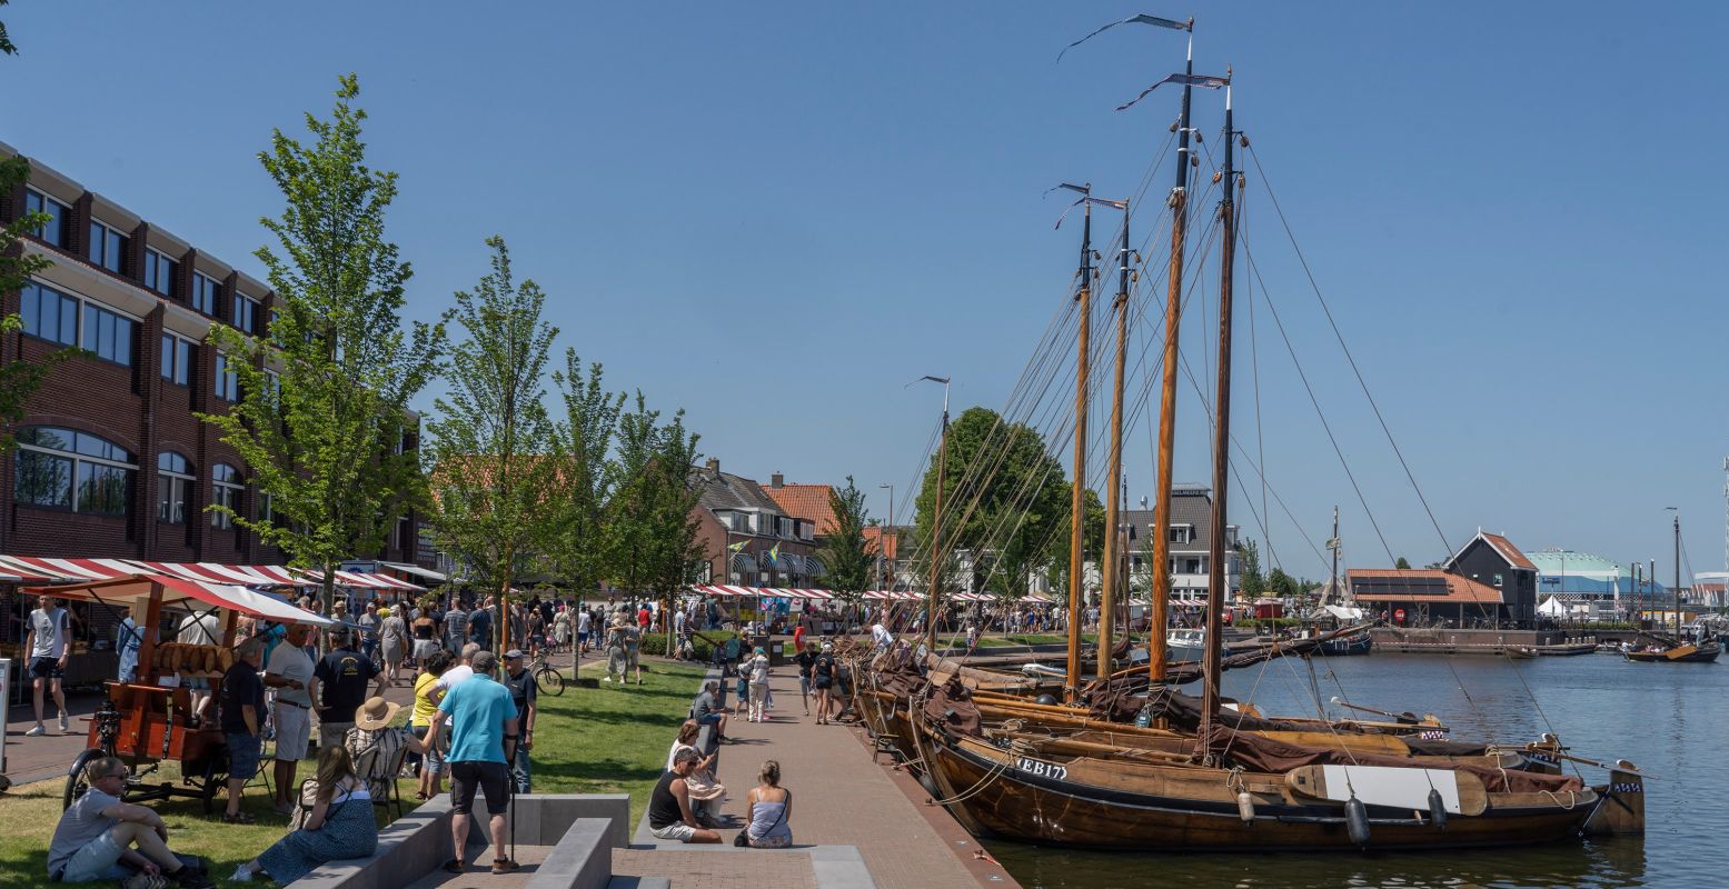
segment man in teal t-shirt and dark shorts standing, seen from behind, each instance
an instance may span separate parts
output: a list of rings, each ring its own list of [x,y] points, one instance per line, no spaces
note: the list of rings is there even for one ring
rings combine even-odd
[[[469,661],[474,676],[456,683],[439,702],[432,714],[432,732],[450,721],[450,799],[451,811],[450,834],[456,842],[456,858],[444,865],[446,870],[462,872],[462,849],[469,842],[469,809],[474,806],[474,792],[486,794],[486,813],[491,816],[493,832],[493,873],[510,873],[520,865],[500,854],[505,849],[505,811],[510,809],[510,790],[507,780],[510,768],[507,763],[517,752],[517,706],[510,700],[510,690],[494,681],[498,657],[493,652],[477,652]]]

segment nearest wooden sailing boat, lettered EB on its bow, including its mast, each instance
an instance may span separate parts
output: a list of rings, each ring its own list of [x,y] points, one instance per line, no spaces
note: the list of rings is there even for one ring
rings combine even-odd
[[[1191,28],[1164,19],[1155,22]],[[1240,187],[1231,149],[1236,137],[1226,81],[1219,401],[1212,455],[1217,502],[1207,602],[1207,630],[1214,640],[1226,595],[1233,194]],[[1177,190],[1184,190],[1184,178]],[[1181,209],[1183,202],[1181,194],[1172,195],[1174,208]],[[1181,244],[1174,244],[1174,251],[1179,249]],[[1174,341],[1174,330],[1167,330],[1167,337]],[[1152,633],[1155,650],[1162,638],[1155,624]],[[1222,707],[1222,661],[1219,647],[1209,645],[1193,735],[1157,726],[1108,726],[1103,735],[1056,737],[1051,726],[1072,720],[1060,714],[1032,732],[1018,725],[986,728],[984,718],[996,702],[960,681],[909,695],[906,720],[941,803],[975,832],[1020,841],[1138,851],[1426,849],[1643,830],[1643,777],[1627,763],[1610,766],[1610,783],[1585,787],[1580,778],[1549,768],[1553,759],[1509,764],[1503,752],[1489,749],[1468,756],[1426,754],[1411,742],[1381,739],[1383,751],[1375,752],[1362,749],[1366,739],[1347,740],[1337,733],[1330,745],[1269,737],[1245,730],[1241,711]],[[1150,669],[1162,675],[1164,657],[1153,657]],[[1074,647],[1067,685],[1075,685]],[[1010,713],[1029,711],[1022,702]],[[1015,721],[1024,720],[1017,716]],[[1127,735],[1138,744],[1120,740]],[[1542,752],[1572,759],[1549,739]]]

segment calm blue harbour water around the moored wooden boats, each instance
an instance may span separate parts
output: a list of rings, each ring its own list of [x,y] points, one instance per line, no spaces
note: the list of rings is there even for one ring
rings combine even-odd
[[[1729,664],[1376,654],[1317,659],[1316,681],[1323,702],[1338,695],[1376,709],[1433,713],[1458,739],[1525,742],[1554,732],[1579,756],[1630,759],[1656,778],[1644,785],[1646,835],[1380,854],[1082,853],[989,841],[991,853],[1029,889],[1729,886]],[[1295,659],[1231,671],[1226,694],[1267,714],[1316,711],[1309,671]],[[1584,775],[1605,780],[1601,770]]]

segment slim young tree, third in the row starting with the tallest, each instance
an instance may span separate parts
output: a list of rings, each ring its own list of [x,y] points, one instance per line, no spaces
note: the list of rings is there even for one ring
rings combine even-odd
[[[541,552],[548,571],[565,578],[572,590],[597,590],[612,567],[607,502],[616,472],[609,455],[624,412],[624,393],[609,393],[600,363],[584,370],[576,349],[565,349],[564,370],[555,370],[552,379],[564,400],[564,419],[553,427],[558,469],[550,479],[558,508],[545,526]]]

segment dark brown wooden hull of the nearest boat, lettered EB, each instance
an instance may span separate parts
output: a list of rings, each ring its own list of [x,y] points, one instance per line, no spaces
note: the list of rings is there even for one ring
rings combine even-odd
[[[1528,846],[1577,837],[1598,804],[1598,796],[1584,790],[1572,809],[1490,808],[1475,816],[1452,815],[1444,830],[1409,809],[1369,806],[1369,841],[1359,846],[1337,803],[1293,803],[1257,792],[1254,818],[1245,822],[1222,770],[1115,763],[1110,768],[1122,780],[1093,783],[1084,780],[1084,761],[1063,766],[980,740],[927,739],[932,778],[961,823],[975,834],[1069,847],[1240,853]],[[1183,796],[1172,796],[1174,789]]]

